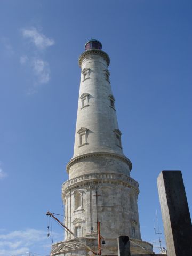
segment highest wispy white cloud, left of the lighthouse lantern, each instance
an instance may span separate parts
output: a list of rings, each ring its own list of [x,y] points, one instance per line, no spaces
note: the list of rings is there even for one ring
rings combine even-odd
[[[30,41],[34,43],[38,49],[41,50],[54,44],[53,39],[47,38],[45,35],[40,33],[40,31],[38,31],[35,27],[31,27],[30,29],[22,29],[22,35],[24,38],[30,39]]]

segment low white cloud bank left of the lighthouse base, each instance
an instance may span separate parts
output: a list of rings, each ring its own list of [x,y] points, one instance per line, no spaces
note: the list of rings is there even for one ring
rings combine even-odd
[[[60,238],[58,233],[53,233],[55,238]],[[42,230],[27,229],[12,231],[7,234],[0,234],[0,255],[15,255],[29,251],[37,252],[42,247],[47,246],[50,251],[50,240],[47,233]]]

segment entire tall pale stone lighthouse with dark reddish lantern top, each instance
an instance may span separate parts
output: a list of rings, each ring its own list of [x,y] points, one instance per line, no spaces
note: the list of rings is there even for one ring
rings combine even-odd
[[[65,225],[97,251],[97,222],[101,223],[102,255],[117,254],[117,237],[130,237],[132,254],[149,254],[152,245],[141,240],[138,182],[130,177],[131,161],[123,154],[111,91],[109,56],[91,40],[79,57],[81,82],[78,98],[74,155],[63,183]],[[51,255],[86,255],[70,233],[52,246]]]

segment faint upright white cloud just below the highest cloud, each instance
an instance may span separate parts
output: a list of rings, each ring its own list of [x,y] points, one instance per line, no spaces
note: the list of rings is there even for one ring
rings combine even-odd
[[[34,58],[31,62],[38,83],[46,84],[50,81],[49,63],[39,58]]]

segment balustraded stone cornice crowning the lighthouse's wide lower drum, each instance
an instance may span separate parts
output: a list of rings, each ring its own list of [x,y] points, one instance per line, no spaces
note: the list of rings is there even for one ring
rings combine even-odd
[[[98,182],[101,184],[107,183],[109,184],[118,184],[121,186],[126,186],[129,188],[132,188],[133,190],[136,191],[136,193],[139,193],[139,184],[137,181],[132,179],[131,177],[121,174],[121,173],[102,173],[102,172],[97,172],[97,173],[88,173],[84,174],[81,176],[78,176],[76,178],[73,178],[71,180],[67,180],[66,182],[63,183],[62,185],[62,195],[66,195],[70,190],[76,189],[78,186],[79,187],[86,187],[89,183],[95,183]]]

